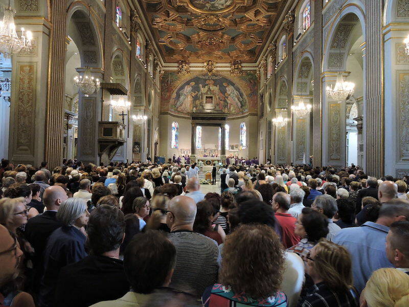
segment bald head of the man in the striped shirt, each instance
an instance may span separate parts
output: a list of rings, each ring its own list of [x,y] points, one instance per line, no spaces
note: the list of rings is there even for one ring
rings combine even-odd
[[[175,224],[193,225],[196,217],[196,204],[188,196],[176,196],[169,202],[169,211],[173,213]]]

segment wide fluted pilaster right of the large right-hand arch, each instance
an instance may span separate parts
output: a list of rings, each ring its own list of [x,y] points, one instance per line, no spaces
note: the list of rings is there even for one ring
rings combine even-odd
[[[384,174],[384,117],[382,65],[382,1],[366,0],[366,101],[363,129],[366,134],[365,172]]]

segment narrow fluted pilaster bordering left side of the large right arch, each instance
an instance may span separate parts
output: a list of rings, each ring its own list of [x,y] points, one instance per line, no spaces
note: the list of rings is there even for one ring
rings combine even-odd
[[[314,92],[312,104],[312,165],[322,166],[322,106],[321,106],[321,64],[323,57],[323,16],[322,16],[322,1],[314,1]],[[307,157],[306,157],[307,158]],[[309,157],[308,157],[309,160]]]

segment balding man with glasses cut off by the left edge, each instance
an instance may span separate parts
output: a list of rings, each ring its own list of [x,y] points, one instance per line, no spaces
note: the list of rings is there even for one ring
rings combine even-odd
[[[22,251],[17,240],[10,235],[6,227],[0,225],[0,289],[18,276],[21,256]],[[5,300],[1,294],[0,306],[9,306],[10,301]],[[30,294],[19,292],[13,298],[13,306],[34,307],[34,301]]]

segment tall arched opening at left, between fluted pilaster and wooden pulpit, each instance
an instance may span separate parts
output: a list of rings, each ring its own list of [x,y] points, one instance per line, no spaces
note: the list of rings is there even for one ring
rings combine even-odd
[[[75,2],[68,9],[66,21],[68,47],[65,54],[65,109],[71,111],[72,116],[67,117],[63,127],[63,134],[67,137],[65,153],[68,157],[71,152],[84,164],[99,160],[97,140],[102,91],[85,97],[74,85],[73,76],[84,75],[86,67],[89,67],[92,77],[103,79],[101,37],[96,30],[95,16],[89,10],[82,3]],[[73,131],[72,124],[75,123],[76,114],[78,130]],[[70,144],[71,136],[74,141]]]

